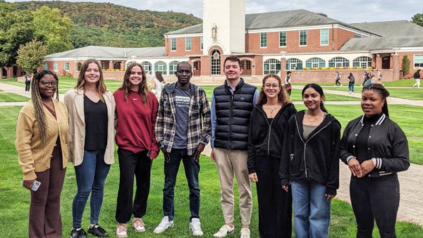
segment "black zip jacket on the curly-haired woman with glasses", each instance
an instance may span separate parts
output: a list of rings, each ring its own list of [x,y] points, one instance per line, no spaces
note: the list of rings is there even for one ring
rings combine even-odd
[[[285,104],[269,123],[262,104],[254,107],[248,127],[248,174],[256,173],[257,156],[281,158],[283,135],[290,116],[296,112],[293,104]]]

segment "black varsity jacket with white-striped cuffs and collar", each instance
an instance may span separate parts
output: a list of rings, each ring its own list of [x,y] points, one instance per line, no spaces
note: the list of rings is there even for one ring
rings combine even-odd
[[[380,177],[407,170],[410,167],[407,137],[401,128],[384,113],[372,124],[366,148],[357,148],[356,138],[362,130],[364,115],[351,120],[341,139],[341,160],[348,164],[355,158],[357,150],[367,150],[369,158],[376,158],[376,167],[367,177]]]

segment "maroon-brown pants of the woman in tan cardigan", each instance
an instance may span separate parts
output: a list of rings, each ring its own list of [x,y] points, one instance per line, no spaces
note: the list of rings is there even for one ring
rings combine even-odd
[[[60,194],[66,168],[63,169],[60,149],[56,152],[57,156],[53,152],[51,157],[50,168],[35,173],[41,185],[37,191],[31,190],[29,237],[62,237]]]

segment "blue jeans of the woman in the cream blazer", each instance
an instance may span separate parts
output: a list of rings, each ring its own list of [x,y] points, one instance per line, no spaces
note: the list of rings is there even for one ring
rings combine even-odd
[[[84,150],[84,160],[75,166],[76,185],[78,191],[72,203],[72,225],[81,227],[82,214],[85,203],[90,196],[90,224],[99,222],[100,210],[103,203],[104,181],[109,173],[110,165],[104,163],[104,151]]]

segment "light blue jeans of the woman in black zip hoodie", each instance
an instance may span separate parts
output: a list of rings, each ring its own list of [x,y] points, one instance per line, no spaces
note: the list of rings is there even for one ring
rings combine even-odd
[[[331,220],[331,200],[327,201],[326,186],[317,182],[291,182],[294,205],[295,237],[328,237]]]

